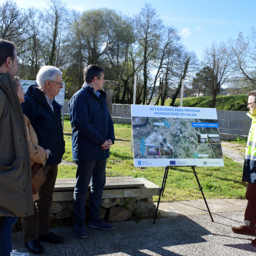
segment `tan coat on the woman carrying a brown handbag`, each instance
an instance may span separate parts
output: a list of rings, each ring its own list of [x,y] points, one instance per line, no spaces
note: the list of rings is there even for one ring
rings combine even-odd
[[[29,119],[24,115],[26,128],[27,128],[27,138],[28,138],[28,148],[31,159],[31,166],[33,163],[42,164],[46,160],[46,152],[44,148],[38,145],[37,134],[34,128],[31,126]],[[38,200],[38,193],[33,194],[33,201]]]

